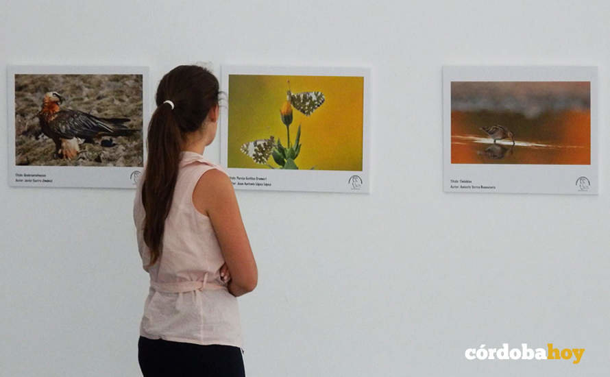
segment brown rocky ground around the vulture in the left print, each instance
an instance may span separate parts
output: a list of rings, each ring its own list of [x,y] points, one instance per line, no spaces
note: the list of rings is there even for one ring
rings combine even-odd
[[[42,134],[36,117],[42,97],[50,91],[64,97],[62,109],[80,110],[101,118],[129,118],[125,125],[139,132],[82,143],[73,160],[54,158],[55,144]],[[16,165],[143,166],[142,101],[141,75],[16,75]]]

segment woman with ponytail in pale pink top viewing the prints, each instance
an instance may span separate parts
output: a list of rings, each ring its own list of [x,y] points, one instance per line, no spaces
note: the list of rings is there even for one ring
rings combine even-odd
[[[219,84],[200,66],[163,76],[148,128],[134,222],[149,295],[138,341],[148,376],[245,376],[236,297],[258,272],[225,171],[203,156]]]

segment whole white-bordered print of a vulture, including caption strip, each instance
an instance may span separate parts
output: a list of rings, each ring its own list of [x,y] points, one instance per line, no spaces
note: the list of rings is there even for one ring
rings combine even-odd
[[[8,66],[7,97],[11,186],[135,186],[147,67]]]

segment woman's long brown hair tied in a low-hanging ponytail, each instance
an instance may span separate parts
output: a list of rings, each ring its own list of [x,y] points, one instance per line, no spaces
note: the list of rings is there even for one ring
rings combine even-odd
[[[173,109],[164,103],[166,100],[173,102]],[[201,66],[177,66],[159,82],[155,101],[157,108],[148,125],[148,158],[142,186],[144,241],[151,252],[149,266],[161,256],[182,143],[186,134],[203,126],[208,112],[218,105],[218,80]]]

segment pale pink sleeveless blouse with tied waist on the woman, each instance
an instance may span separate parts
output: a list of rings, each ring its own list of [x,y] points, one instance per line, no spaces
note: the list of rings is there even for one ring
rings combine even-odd
[[[193,205],[193,189],[199,178],[211,169],[226,172],[195,152],[185,151],[180,157],[173,202],[165,220],[162,254],[148,269],[151,256],[143,237],[143,179],[136,189],[138,249],[151,284],[140,335],[202,345],[234,345],[243,350],[237,299],[220,278],[224,259],[216,234],[209,217]]]

